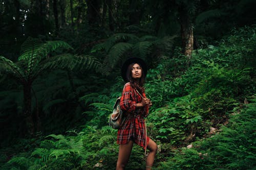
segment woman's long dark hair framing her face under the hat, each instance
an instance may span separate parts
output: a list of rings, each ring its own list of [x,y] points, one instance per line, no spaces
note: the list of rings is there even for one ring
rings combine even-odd
[[[139,84],[135,82],[135,80],[133,79],[132,77],[132,68],[133,68],[133,65],[134,64],[139,64],[140,68],[141,68],[141,78],[140,78],[140,81],[139,81]],[[128,67],[127,67],[127,70],[126,70],[126,78],[127,80],[130,82],[131,86],[133,88],[136,88],[140,93],[143,93],[144,92],[144,83],[145,83],[145,75],[144,75],[144,72],[143,72],[143,69],[140,65],[140,63],[132,63],[130,64]]]

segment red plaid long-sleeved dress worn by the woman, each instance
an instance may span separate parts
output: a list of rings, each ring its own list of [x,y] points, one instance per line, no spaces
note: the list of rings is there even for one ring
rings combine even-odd
[[[145,93],[142,95],[144,97]],[[145,144],[148,144],[150,140],[146,137],[147,142],[145,143],[145,123],[144,117],[147,116],[148,106],[136,108],[135,104],[142,101],[141,96],[138,92],[130,85],[126,83],[123,87],[123,92],[120,100],[120,107],[123,113],[128,117],[123,126],[118,129],[117,133],[117,144],[126,144],[130,140],[146,148]]]

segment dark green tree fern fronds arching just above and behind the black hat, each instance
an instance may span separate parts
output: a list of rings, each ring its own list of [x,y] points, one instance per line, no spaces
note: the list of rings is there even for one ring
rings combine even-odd
[[[139,38],[133,34],[114,34],[105,42],[95,45],[91,52],[107,53],[101,62],[103,63],[102,73],[108,75],[113,68],[117,66],[119,68],[127,57],[136,56],[146,59],[156,48],[170,50],[176,37],[177,35],[157,38],[147,35]]]

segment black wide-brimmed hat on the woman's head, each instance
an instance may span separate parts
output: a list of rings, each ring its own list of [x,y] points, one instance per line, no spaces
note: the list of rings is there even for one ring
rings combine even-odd
[[[129,58],[127,59],[124,63],[123,63],[123,66],[121,68],[121,75],[122,75],[122,78],[125,82],[127,82],[127,78],[126,78],[126,71],[127,71],[127,68],[130,64],[132,63],[138,63],[140,64],[140,66],[142,67],[142,70],[143,70],[143,74],[144,76],[146,77],[146,73],[147,73],[147,66],[146,66],[146,63],[144,62],[144,60],[142,60],[141,58],[138,58],[138,57],[132,57],[132,58]]]

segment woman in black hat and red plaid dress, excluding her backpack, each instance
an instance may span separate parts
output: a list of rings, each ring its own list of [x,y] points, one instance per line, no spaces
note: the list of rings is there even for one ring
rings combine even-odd
[[[121,72],[123,80],[127,83],[123,87],[120,107],[127,116],[127,119],[119,128],[117,134],[119,153],[116,169],[125,168],[133,148],[133,143],[150,150],[146,159],[146,169],[152,169],[157,152],[157,144],[146,136],[144,122],[144,117],[148,114],[148,107],[152,105],[144,92],[147,67],[142,59],[130,58],[124,62]],[[141,95],[143,95],[143,98]]]

